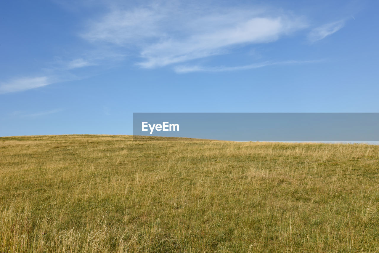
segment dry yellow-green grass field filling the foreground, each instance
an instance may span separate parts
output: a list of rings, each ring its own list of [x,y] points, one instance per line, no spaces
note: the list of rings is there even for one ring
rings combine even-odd
[[[0,138],[0,252],[379,252],[379,146]]]

